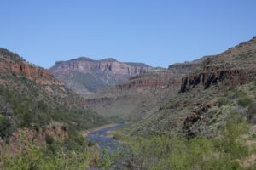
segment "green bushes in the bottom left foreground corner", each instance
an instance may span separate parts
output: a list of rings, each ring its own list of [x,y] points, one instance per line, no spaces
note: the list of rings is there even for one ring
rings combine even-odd
[[[50,145],[52,146],[52,145]],[[50,147],[38,147],[33,144],[28,144],[24,150],[17,153],[15,157],[8,155],[0,156],[3,164],[1,169],[31,169],[31,170],[76,170],[87,169],[89,167],[89,153],[82,147],[80,151],[63,150],[61,146],[55,147],[55,152],[52,152]]]

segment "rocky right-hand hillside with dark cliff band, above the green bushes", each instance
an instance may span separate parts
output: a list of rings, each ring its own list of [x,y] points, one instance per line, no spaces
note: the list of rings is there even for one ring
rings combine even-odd
[[[255,105],[256,38],[182,69],[179,93],[172,95],[135,126],[134,133],[184,133],[214,136],[230,116],[248,117]],[[187,65],[187,66],[186,66]],[[177,69],[179,70],[179,69]],[[253,83],[254,82],[254,83]]]

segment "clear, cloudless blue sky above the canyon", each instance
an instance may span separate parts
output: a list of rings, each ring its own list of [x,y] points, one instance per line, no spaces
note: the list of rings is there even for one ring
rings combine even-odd
[[[163,66],[256,36],[255,0],[1,0],[0,47],[49,68],[87,56]]]

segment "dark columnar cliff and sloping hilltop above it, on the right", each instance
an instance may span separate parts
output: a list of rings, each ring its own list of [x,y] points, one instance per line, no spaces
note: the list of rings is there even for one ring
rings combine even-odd
[[[256,38],[211,56],[195,70],[182,78],[181,92],[201,85],[209,88],[221,83],[236,86],[256,80]]]

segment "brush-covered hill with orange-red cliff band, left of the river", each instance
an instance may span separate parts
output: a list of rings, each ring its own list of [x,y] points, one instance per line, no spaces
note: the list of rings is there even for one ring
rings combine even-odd
[[[39,130],[52,122],[84,129],[105,121],[49,71],[0,48],[0,140],[9,140],[17,129]]]

